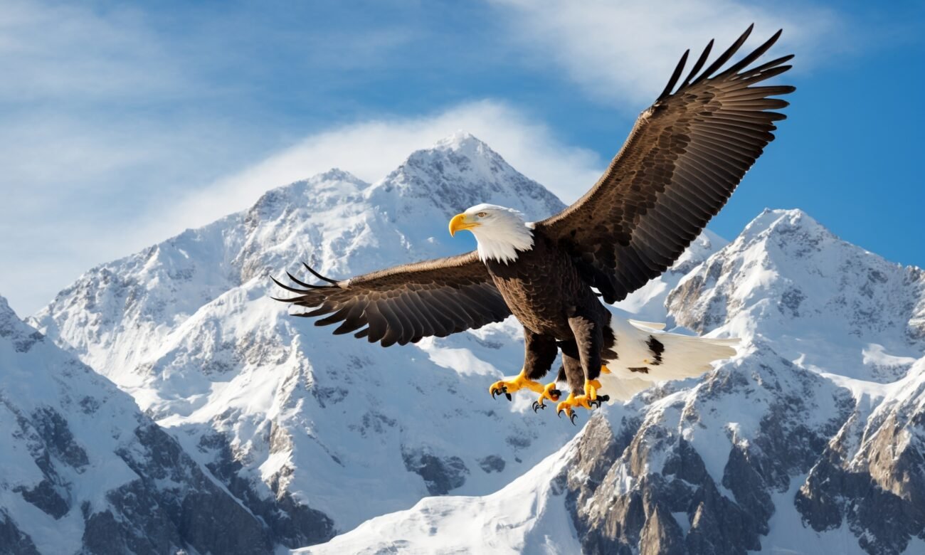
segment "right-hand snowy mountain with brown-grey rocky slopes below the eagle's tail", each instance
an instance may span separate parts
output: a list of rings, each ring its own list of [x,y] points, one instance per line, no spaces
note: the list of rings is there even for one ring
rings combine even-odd
[[[766,211],[667,302],[745,348],[606,407],[496,493],[305,552],[925,551],[925,272]]]

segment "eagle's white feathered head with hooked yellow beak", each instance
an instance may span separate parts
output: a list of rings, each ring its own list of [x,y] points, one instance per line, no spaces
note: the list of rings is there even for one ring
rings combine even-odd
[[[520,252],[533,248],[533,224],[512,208],[496,204],[475,204],[450,220],[450,235],[468,229],[478,241],[478,257],[507,264]]]

